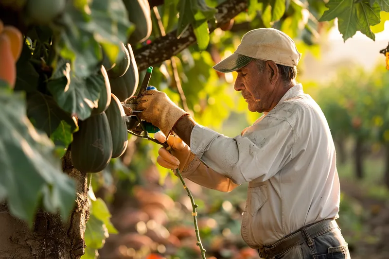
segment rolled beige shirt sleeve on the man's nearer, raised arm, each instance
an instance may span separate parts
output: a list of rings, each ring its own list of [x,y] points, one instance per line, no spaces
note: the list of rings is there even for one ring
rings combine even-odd
[[[279,172],[292,159],[294,142],[289,122],[269,115],[235,138],[199,124],[191,134],[192,153],[237,185]]]

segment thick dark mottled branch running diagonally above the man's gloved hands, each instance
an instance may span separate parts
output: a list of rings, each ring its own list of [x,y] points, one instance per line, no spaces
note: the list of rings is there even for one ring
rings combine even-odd
[[[247,0],[227,0],[216,7],[215,15],[217,24],[220,26],[230,21],[248,7]],[[216,27],[209,24],[210,33]],[[157,38],[154,42],[135,51],[135,60],[138,69],[141,71],[150,66],[155,66],[170,59],[179,52],[185,50],[196,42],[196,36],[192,27],[189,27],[184,34],[177,39],[177,31],[168,33],[166,36]]]

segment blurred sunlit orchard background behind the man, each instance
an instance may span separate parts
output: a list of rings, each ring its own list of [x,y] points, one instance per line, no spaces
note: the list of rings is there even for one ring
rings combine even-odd
[[[240,14],[235,23],[247,16]],[[175,58],[184,102],[195,120],[229,137],[261,116],[249,112],[234,92],[236,73],[212,69],[235,50],[244,33],[216,29],[207,51],[189,47]],[[351,256],[389,258],[389,71],[379,53],[388,46],[388,26],[375,41],[357,32],[344,42],[336,21],[311,44],[294,39],[302,53],[298,81],[324,111],[336,144],[341,183],[338,224]],[[154,70],[150,85],[183,104],[168,66],[169,61]],[[92,178],[94,193],[106,202],[118,230],[99,250],[101,259],[201,257],[189,197],[179,179],[156,164],[158,149],[155,143],[131,136],[125,154]],[[207,258],[259,259],[240,236],[247,184],[222,193],[186,183],[199,205]]]

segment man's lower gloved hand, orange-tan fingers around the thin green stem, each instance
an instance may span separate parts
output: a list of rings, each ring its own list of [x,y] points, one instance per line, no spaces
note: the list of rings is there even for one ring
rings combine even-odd
[[[160,131],[154,135],[154,138],[162,143],[166,141],[165,135]],[[170,135],[167,143],[172,147],[171,152],[173,155],[166,148],[161,147],[158,151],[157,163],[168,169],[178,168],[182,172],[185,166],[195,158],[195,155],[192,154],[190,147],[176,135]]]

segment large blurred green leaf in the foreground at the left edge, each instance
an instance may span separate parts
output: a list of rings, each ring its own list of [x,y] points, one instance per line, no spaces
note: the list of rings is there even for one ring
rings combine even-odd
[[[74,182],[61,172],[53,143],[36,132],[26,116],[21,94],[0,90],[0,190],[13,215],[32,224],[39,197],[50,211],[67,217],[73,206]]]

